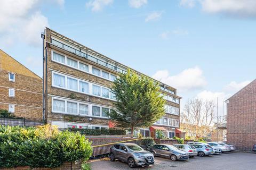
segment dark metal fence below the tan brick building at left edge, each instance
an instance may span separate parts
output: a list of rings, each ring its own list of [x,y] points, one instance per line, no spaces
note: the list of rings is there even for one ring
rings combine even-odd
[[[43,124],[44,121],[42,118],[0,116],[0,125],[29,127]]]

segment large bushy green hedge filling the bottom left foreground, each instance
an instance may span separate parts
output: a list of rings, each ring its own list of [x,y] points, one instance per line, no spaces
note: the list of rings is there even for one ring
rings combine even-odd
[[[0,168],[52,168],[64,162],[88,160],[91,154],[91,142],[80,133],[59,132],[50,125],[38,128],[0,126]]]

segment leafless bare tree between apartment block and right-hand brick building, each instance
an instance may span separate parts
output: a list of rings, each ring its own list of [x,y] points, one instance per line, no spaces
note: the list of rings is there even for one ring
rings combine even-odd
[[[181,114],[181,128],[194,140],[206,137],[212,130],[214,109],[213,101],[188,100]]]

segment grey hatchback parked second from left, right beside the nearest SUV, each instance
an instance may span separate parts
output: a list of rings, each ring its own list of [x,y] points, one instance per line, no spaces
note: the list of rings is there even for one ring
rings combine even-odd
[[[158,144],[151,148],[151,153],[154,156],[171,158],[171,160],[187,160],[189,155],[185,151],[181,151],[172,145]]]

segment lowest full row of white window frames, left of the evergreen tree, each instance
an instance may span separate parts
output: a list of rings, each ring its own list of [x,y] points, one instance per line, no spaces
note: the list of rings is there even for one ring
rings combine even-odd
[[[53,100],[54,99],[55,100],[65,101],[65,112],[54,111],[53,110]],[[77,113],[69,113],[69,112],[67,112],[67,103],[68,102],[76,103],[77,104]],[[87,115],[79,113],[79,104],[88,105],[88,114]],[[100,107],[100,116],[92,115],[92,106]],[[90,116],[90,117],[99,117],[99,118],[109,118],[109,117],[102,116],[102,107],[108,108],[109,112],[110,112],[111,109],[113,109],[113,108],[111,108],[109,106],[105,106],[105,105],[90,104],[90,103],[81,102],[81,101],[77,101],[77,100],[70,100],[70,99],[65,99],[65,98],[60,98],[60,97],[52,97],[52,113],[61,113],[61,114],[67,114],[67,115],[78,115],[78,116],[85,116],[85,117]]]

